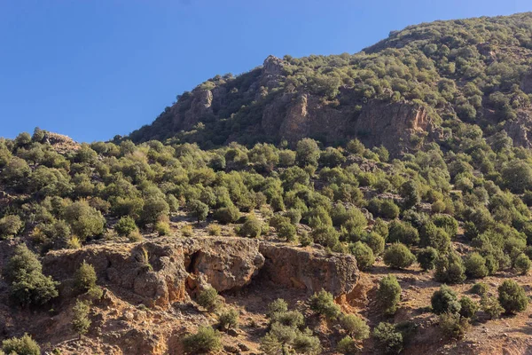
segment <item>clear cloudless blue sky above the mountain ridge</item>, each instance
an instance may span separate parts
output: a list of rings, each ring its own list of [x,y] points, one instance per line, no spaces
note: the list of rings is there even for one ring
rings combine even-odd
[[[530,0],[0,0],[0,136],[39,126],[106,140],[270,54],[354,53],[419,22],[527,11]]]

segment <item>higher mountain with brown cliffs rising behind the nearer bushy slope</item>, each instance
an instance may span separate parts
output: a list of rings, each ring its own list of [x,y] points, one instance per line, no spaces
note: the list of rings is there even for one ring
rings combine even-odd
[[[359,138],[399,153],[445,145],[467,122],[531,147],[531,38],[527,12],[411,26],[352,55],[270,56],[184,92],[129,138],[204,147]]]

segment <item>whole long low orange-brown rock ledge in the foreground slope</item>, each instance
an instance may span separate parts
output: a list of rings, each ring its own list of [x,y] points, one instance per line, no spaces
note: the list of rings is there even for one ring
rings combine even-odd
[[[188,299],[204,282],[223,292],[246,286],[259,273],[278,285],[309,293],[324,288],[334,296],[348,294],[359,278],[354,256],[236,237],[52,251],[43,258],[43,270],[56,280],[71,280],[83,260],[94,266],[101,284],[163,308]]]

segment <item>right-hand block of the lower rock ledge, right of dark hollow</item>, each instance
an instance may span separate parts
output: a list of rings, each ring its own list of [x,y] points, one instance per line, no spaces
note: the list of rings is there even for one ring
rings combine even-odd
[[[325,289],[338,297],[351,292],[360,277],[351,255],[328,255],[323,250],[269,242],[261,242],[260,251],[266,258],[261,275],[276,285],[303,288],[309,293]]]

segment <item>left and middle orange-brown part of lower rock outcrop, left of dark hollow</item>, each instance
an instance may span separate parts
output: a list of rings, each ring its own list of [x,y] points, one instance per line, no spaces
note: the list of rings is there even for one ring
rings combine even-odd
[[[202,277],[219,292],[245,286],[264,263],[258,249],[258,241],[243,238],[167,238],[54,251],[43,258],[43,269],[56,280],[68,280],[85,260],[103,284],[167,307],[188,297],[195,284],[187,282],[191,278]]]

